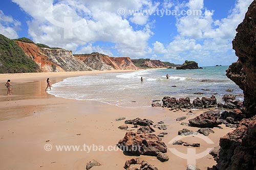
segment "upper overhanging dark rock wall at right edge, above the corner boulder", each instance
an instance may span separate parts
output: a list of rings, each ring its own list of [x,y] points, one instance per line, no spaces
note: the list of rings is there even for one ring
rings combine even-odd
[[[245,112],[254,115],[256,110],[256,1],[253,1],[245,15],[245,19],[237,28],[233,40],[233,49],[238,56],[238,62],[227,70],[227,76],[244,90]],[[233,66],[237,68],[233,69]],[[241,68],[241,69],[240,69]],[[243,72],[242,79],[237,79],[233,72]]]

